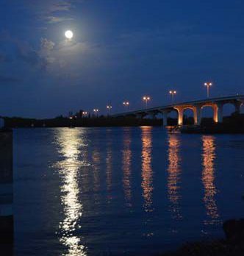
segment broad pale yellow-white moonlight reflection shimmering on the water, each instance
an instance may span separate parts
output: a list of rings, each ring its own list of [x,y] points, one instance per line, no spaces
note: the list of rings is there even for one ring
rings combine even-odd
[[[60,242],[67,248],[62,255],[68,256],[87,255],[81,238],[76,235],[76,230],[82,228],[78,223],[83,212],[79,199],[79,168],[87,165],[84,160],[79,160],[81,147],[85,147],[82,138],[79,129],[58,129],[56,133],[56,143],[63,158],[56,166],[62,179],[60,191],[65,216],[60,222],[57,234]]]

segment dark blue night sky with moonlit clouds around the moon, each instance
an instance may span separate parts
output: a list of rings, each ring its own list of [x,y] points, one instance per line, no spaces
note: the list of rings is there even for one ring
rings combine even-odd
[[[242,0],[1,0],[0,115],[244,93]],[[67,42],[66,29],[74,38]]]

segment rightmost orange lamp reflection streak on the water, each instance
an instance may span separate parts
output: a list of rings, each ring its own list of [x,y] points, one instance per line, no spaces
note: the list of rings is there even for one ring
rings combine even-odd
[[[204,221],[205,224],[214,224],[219,221],[218,207],[215,200],[217,189],[215,187],[215,136],[202,136],[202,182],[204,184],[204,204],[207,216],[210,219]]]

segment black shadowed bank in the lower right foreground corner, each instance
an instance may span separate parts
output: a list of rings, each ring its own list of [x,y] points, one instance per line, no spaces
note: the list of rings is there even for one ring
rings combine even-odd
[[[187,243],[176,252],[168,252],[162,256],[243,256],[244,219],[224,222],[223,231],[225,239]]]

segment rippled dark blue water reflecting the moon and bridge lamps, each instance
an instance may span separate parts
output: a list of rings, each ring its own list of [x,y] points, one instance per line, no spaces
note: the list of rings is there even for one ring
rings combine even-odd
[[[154,255],[244,216],[244,135],[16,129],[15,255]]]

